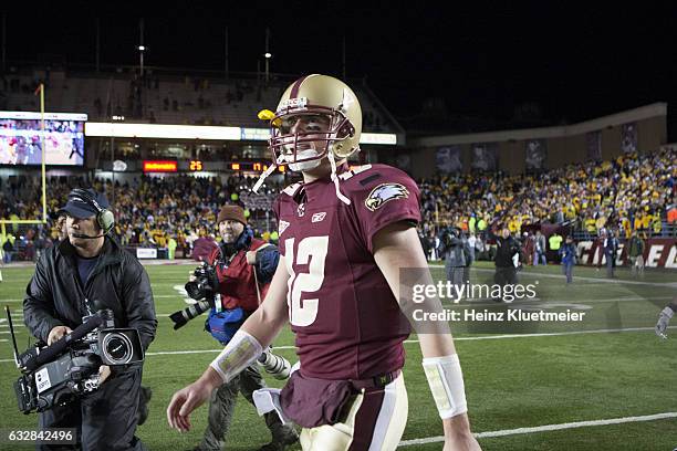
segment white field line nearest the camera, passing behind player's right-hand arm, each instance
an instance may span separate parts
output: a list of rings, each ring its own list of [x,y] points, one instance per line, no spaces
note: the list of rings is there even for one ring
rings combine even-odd
[[[677,418],[677,412],[645,415],[642,417],[610,418],[607,420],[574,421],[574,422],[560,423],[560,424],[543,424],[543,426],[537,426],[533,428],[504,429],[500,431],[479,432],[479,433],[476,433],[475,437],[478,439],[487,439],[487,438],[492,438],[492,437],[507,437],[507,436],[518,436],[518,434],[523,434],[523,433],[538,433],[538,432],[561,431],[565,429],[589,428],[589,427],[594,427],[594,426],[623,424],[623,423],[640,422],[640,421],[656,421],[656,420],[665,420],[668,418]],[[445,438],[441,436],[428,437],[425,439],[403,440],[399,442],[399,447],[412,447],[412,445],[425,444],[425,443],[441,443],[444,441],[445,441]]]

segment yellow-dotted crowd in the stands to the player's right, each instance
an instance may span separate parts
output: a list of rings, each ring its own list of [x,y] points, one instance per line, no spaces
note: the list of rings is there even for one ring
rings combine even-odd
[[[424,232],[449,224],[482,232],[501,222],[513,233],[524,226],[552,223],[591,237],[604,229],[617,229],[622,238],[633,230],[660,234],[677,214],[676,160],[677,151],[666,148],[534,175],[466,174],[421,180]]]

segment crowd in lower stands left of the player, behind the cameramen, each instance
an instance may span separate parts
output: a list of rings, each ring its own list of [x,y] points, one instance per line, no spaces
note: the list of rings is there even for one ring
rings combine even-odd
[[[35,256],[56,241],[55,220],[69,192],[76,187],[90,186],[106,193],[116,219],[112,234],[125,247],[166,248],[169,239],[174,239],[177,250],[188,255],[196,240],[218,240],[216,216],[225,203],[239,203],[246,208],[254,233],[269,240],[270,231],[274,229],[271,206],[281,187],[269,179],[262,192],[253,195],[251,187],[256,180],[238,176],[229,177],[226,182],[218,177],[140,177],[132,183],[116,182],[113,189],[110,180],[97,179],[88,183],[79,177],[50,178],[48,224],[28,228],[8,224],[8,235],[1,241],[4,244],[11,237],[14,251],[21,251],[23,259]],[[12,221],[42,217],[39,179],[22,176],[0,180],[0,217]],[[272,234],[273,240],[275,237],[277,233]],[[35,241],[38,238],[40,242]]]

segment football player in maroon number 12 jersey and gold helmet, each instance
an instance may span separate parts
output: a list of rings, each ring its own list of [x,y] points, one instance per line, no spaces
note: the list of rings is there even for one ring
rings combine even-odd
[[[402,368],[410,327],[403,312],[412,305],[400,296],[409,289],[400,285],[400,270],[421,269],[417,283],[433,285],[416,233],[418,187],[385,165],[348,168],[362,111],[336,78],[298,80],[270,122],[273,165],[258,186],[282,165],[303,175],[275,203],[280,264],[261,307],[202,376],[174,395],[167,420],[189,430],[190,412],[251,365],[289,322],[300,369],[281,392],[270,390],[270,405],[303,428],[303,449],[394,450],[408,411]],[[430,303],[441,308],[436,296]],[[479,450],[448,323],[427,326],[417,332],[425,332],[418,335],[423,367],[445,450]]]

